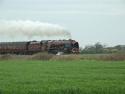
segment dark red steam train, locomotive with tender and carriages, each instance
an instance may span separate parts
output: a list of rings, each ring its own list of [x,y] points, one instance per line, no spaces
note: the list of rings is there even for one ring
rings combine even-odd
[[[38,52],[76,54],[79,53],[79,43],[71,39],[0,42],[0,54],[34,54]]]

